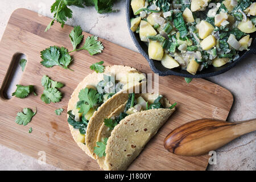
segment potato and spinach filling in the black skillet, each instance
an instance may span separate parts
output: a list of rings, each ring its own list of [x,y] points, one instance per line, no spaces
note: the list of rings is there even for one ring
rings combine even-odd
[[[131,30],[150,59],[192,75],[239,58],[256,31],[253,0],[131,0]]]

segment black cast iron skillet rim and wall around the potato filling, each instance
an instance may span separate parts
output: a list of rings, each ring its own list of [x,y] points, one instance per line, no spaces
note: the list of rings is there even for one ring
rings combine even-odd
[[[253,43],[251,43],[251,46],[249,47],[250,50],[240,52],[239,59],[235,61],[231,61],[230,63],[227,63],[222,67],[215,68],[212,65],[210,65],[207,69],[204,69],[201,72],[197,72],[196,75],[191,75],[187,71],[181,70],[180,68],[174,68],[174,69],[165,68],[161,64],[161,61],[149,59],[146,44],[143,43],[141,39],[139,39],[139,34],[130,30],[130,27],[131,27],[130,19],[134,17],[130,2],[131,0],[126,0],[126,21],[127,21],[127,26],[128,26],[130,35],[131,35],[131,39],[133,39],[133,42],[135,46],[139,49],[139,52],[141,52],[141,54],[148,61],[148,64],[150,65],[150,68],[152,69],[152,71],[154,73],[158,73],[159,76],[176,75],[176,76],[189,77],[189,78],[204,78],[204,77],[216,76],[228,71],[230,68],[233,68],[235,65],[237,65],[237,63],[245,59],[247,55],[250,55],[251,53],[256,54],[256,40],[255,40],[256,32],[254,32],[253,34],[250,34],[250,37],[253,38]]]

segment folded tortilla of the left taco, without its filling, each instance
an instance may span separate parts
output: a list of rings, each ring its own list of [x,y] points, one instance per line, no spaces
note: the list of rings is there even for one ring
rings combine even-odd
[[[76,109],[76,104],[79,101],[79,92],[81,89],[86,87],[94,86],[97,87],[98,82],[104,80],[104,74],[115,73],[115,80],[118,80],[124,84],[122,90],[130,89],[133,85],[142,85],[144,81],[139,81],[137,79],[146,78],[142,73],[138,72],[137,69],[126,67],[122,65],[113,65],[111,67],[105,67],[104,73],[96,73],[93,72],[86,76],[84,80],[80,82],[77,88],[72,93],[71,99],[68,102],[67,110]],[[129,76],[128,76],[129,75]],[[130,77],[133,77],[133,80],[129,80]],[[129,96],[128,93],[123,93],[122,90],[118,93],[115,93],[114,96],[106,100],[100,107],[98,107],[97,111],[94,111],[92,117],[89,119],[88,126],[86,129],[85,135],[85,143],[79,141],[81,137],[80,131],[78,129],[74,129],[72,125],[69,125],[69,129],[71,130],[71,134],[77,145],[85,151],[86,154],[91,156],[92,158],[96,158],[93,155],[93,147],[96,145],[96,139],[98,135],[98,129],[102,124],[101,118],[108,117],[118,106],[123,104]],[[69,115],[68,115],[69,117]]]

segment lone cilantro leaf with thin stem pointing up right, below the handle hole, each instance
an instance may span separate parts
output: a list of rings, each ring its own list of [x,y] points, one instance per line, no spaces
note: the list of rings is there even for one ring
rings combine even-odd
[[[17,113],[15,122],[18,123],[19,125],[24,125],[26,126],[32,119],[32,117],[36,114],[36,110],[35,113],[33,113],[33,111],[29,108],[24,108],[23,112],[19,112]]]

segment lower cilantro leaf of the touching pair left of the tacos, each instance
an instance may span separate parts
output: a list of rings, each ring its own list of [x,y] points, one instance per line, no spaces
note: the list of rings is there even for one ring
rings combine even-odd
[[[49,104],[51,102],[53,103],[60,102],[61,98],[62,98],[61,92],[56,88],[44,89],[44,92],[41,96],[41,100],[46,104]]]

